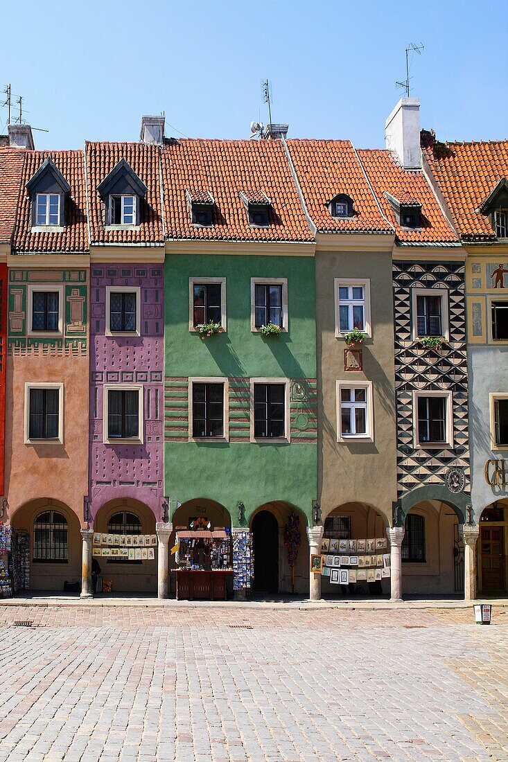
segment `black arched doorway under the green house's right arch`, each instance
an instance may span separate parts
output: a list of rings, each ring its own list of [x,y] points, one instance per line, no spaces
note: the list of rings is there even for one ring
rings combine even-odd
[[[271,511],[252,519],[254,539],[254,589],[278,593],[278,523]]]

